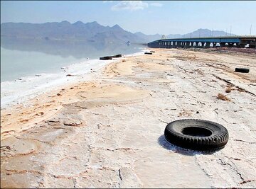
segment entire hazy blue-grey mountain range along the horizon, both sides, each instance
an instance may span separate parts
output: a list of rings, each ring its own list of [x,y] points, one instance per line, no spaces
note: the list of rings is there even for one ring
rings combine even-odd
[[[184,35],[169,34],[166,35],[166,38],[198,38],[229,35],[229,33],[221,30],[198,29]],[[161,39],[162,35],[146,35],[141,32],[131,33],[117,24],[110,27],[108,25],[100,25],[96,21],[91,23],[82,23],[81,21],[70,23],[68,21],[62,21],[60,23],[1,23],[2,37],[43,40],[82,40],[103,43],[128,41],[133,43],[147,43]]]

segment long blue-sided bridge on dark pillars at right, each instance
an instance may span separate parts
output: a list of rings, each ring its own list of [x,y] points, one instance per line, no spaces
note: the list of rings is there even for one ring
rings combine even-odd
[[[256,35],[252,36],[229,36],[210,38],[177,38],[162,39],[148,43],[151,48],[190,48],[190,47],[249,47],[256,48]]]

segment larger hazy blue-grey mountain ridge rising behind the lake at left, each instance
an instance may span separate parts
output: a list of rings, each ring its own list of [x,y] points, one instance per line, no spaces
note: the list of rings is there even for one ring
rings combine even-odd
[[[123,30],[119,25],[103,26],[97,22],[82,23],[1,23],[1,37],[45,40],[85,40],[101,42],[147,42]]]

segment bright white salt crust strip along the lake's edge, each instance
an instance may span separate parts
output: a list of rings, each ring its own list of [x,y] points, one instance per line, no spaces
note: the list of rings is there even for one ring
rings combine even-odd
[[[141,52],[135,52],[124,57],[142,55]],[[56,86],[61,87],[68,84],[75,84],[78,81],[90,81],[92,72],[99,71],[107,64],[116,62],[118,59],[99,60],[90,59],[85,62],[70,64],[67,67],[60,68],[56,73],[35,74],[34,76],[24,76],[15,81],[1,82],[1,110],[10,108],[15,104],[26,104],[26,101],[36,98],[39,94],[49,92]],[[25,88],[25,89],[24,89]],[[22,95],[20,93],[23,93]]]

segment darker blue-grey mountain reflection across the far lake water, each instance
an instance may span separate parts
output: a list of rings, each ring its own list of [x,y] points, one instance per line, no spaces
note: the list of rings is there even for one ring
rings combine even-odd
[[[8,50],[19,50],[26,52],[43,52],[48,55],[60,57],[75,57],[82,59],[86,57],[98,58],[114,54],[129,54],[138,52],[141,44],[130,44],[123,42],[93,42],[93,41],[70,41],[70,40],[26,40],[21,38],[1,38],[1,47]]]

